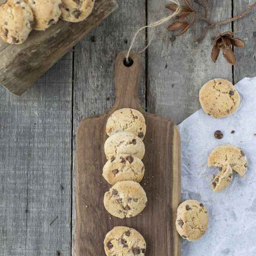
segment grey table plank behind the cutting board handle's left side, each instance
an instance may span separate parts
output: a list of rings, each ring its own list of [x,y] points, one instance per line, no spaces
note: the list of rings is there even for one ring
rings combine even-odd
[[[114,62],[119,52],[128,49],[135,31],[145,25],[143,1],[119,1],[119,8],[75,46],[73,136],[81,119],[103,113],[115,102]],[[134,50],[145,46],[145,32]],[[140,104],[145,108],[145,53],[143,57]],[[73,143],[75,159],[76,141]],[[76,255],[75,161],[73,161],[72,255]]]

